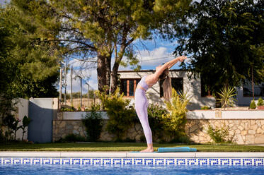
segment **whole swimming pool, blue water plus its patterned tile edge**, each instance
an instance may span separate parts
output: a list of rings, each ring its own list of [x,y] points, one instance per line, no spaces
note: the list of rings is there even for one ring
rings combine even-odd
[[[264,158],[1,157],[0,174],[264,174]]]

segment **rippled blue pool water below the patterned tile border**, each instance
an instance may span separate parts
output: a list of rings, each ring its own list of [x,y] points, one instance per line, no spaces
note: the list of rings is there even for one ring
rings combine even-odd
[[[264,174],[260,166],[0,164],[0,174]]]

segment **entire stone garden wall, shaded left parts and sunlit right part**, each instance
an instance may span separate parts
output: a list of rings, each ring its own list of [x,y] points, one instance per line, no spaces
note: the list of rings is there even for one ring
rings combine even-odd
[[[103,131],[100,140],[113,141],[114,135],[105,131],[107,119],[104,120]],[[207,134],[208,126],[213,128],[229,128],[229,136],[238,144],[260,144],[264,143],[264,119],[188,119],[185,131],[195,143],[213,142]],[[155,128],[151,128],[154,130]],[[59,112],[57,120],[53,121],[52,141],[64,138],[70,133],[86,136],[86,131],[80,119],[65,120],[63,113]],[[142,126],[137,123],[127,129],[125,137],[131,140],[142,141],[144,138]],[[154,138],[156,140],[156,138]],[[159,140],[156,140],[159,141]]]

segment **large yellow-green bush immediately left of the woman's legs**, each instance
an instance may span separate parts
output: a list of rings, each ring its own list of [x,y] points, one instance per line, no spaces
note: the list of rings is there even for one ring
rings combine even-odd
[[[107,111],[109,120],[106,130],[115,135],[116,140],[122,140],[127,128],[132,126],[136,119],[136,112],[133,107],[127,107],[130,104],[129,99],[124,99],[120,94],[119,88],[114,94],[108,95],[106,92],[96,92],[97,97],[101,99],[103,108]]]

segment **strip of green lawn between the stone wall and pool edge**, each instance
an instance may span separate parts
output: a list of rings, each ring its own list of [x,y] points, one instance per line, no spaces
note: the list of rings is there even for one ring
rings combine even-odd
[[[180,145],[176,143],[156,143],[159,147],[195,147],[199,152],[264,152],[264,147],[254,145],[201,144]],[[0,144],[0,151],[139,151],[145,143],[10,143]]]

